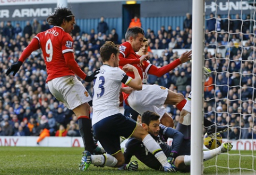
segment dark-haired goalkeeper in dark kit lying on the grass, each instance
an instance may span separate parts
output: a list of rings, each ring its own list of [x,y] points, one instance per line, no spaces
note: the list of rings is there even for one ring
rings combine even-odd
[[[171,127],[160,124],[159,115],[154,112],[144,112],[141,116],[141,123],[144,130],[160,145],[168,161],[172,164],[172,171],[190,171],[190,139],[183,139],[183,134]],[[172,146],[169,146],[163,139],[163,136],[173,138]],[[221,152],[227,152],[232,149],[230,143],[223,143],[219,148],[209,151],[203,151],[204,161],[214,158]],[[163,170],[161,164],[157,161],[143,143],[134,138],[130,138],[125,144],[124,158],[125,163],[129,163],[132,156],[135,155],[142,163],[156,170]]]

